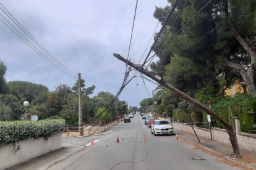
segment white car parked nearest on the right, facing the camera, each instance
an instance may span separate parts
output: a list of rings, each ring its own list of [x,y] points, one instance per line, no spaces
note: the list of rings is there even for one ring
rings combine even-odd
[[[151,125],[151,134],[174,134],[173,126],[167,120],[154,120]]]

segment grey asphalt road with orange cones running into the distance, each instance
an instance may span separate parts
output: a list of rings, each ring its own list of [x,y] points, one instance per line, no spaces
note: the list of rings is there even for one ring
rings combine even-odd
[[[176,136],[154,137],[140,115],[135,114],[131,123],[117,126],[110,134],[93,137],[97,141],[94,146],[85,147],[48,169],[236,169],[194,145],[176,140]],[[143,134],[146,142],[142,141]],[[116,143],[117,136],[120,143]],[[64,143],[84,146],[90,140],[92,137],[69,138]]]

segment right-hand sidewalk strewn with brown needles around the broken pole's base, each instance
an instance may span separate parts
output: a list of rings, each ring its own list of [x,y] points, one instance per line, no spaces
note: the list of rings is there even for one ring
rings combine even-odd
[[[237,166],[242,169],[256,169],[256,153],[249,152],[240,148],[241,157],[240,159],[234,159],[233,148],[231,145],[224,145],[220,142],[216,142],[211,139],[198,137],[198,142],[195,134],[190,134],[184,131],[176,131],[179,140],[184,140],[195,146],[194,149],[200,149],[209,155],[220,158],[220,161],[229,164],[231,166]]]

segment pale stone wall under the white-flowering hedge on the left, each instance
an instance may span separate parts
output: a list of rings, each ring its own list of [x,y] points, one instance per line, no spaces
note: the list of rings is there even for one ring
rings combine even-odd
[[[14,145],[8,144],[0,148],[0,169],[23,163],[45,153],[62,148],[61,133],[54,134],[48,140],[27,139],[19,142],[20,150],[12,152]]]

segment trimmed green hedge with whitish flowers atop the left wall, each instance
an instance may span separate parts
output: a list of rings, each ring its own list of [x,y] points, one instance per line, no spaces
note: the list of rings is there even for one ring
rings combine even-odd
[[[63,132],[64,119],[44,119],[40,121],[0,121],[0,147],[15,144],[20,140],[49,139],[53,134]]]

